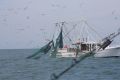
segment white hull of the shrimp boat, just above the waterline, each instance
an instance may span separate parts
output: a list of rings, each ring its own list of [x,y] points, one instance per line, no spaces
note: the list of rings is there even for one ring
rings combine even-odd
[[[79,52],[77,57],[80,57],[83,54],[86,54],[88,52]],[[57,57],[76,57],[75,52],[67,52],[66,50],[62,50],[57,53]],[[119,57],[120,56],[120,47],[111,47],[107,48],[105,50],[96,52],[94,57]]]

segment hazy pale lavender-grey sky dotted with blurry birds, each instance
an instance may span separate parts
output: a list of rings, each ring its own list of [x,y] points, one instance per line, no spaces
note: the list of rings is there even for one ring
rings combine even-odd
[[[81,19],[103,37],[115,32],[120,0],[0,0],[0,49],[39,48],[52,37],[56,22]]]

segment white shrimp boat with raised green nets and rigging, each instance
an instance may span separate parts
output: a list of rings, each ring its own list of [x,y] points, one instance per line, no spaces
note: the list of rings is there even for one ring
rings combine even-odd
[[[86,21],[82,21],[82,23],[84,23],[82,29],[79,30],[79,28],[76,28],[77,24],[75,24],[71,29],[69,29],[69,31],[65,31],[65,22],[57,23],[56,26],[59,27],[57,37],[55,37],[54,33],[52,40],[40,48],[39,51],[33,55],[28,56],[27,58],[38,59],[41,57],[41,54],[47,53],[50,53],[50,56],[52,57],[58,58],[80,57],[91,51],[94,51],[94,57],[120,56],[119,46],[109,47],[114,38],[120,34],[120,29],[103,39],[95,40],[95,37],[93,37],[93,39],[89,37],[90,33],[92,32],[85,30],[85,25],[89,26],[88,23]],[[72,33],[75,28],[77,31],[75,30],[75,33]],[[89,28],[91,28],[93,32],[96,32],[91,26],[89,26]],[[79,35],[76,32],[80,32]],[[87,34],[83,35],[83,33]],[[94,33],[94,35],[96,34],[98,33]],[[73,35],[73,37],[70,37],[70,35]]]

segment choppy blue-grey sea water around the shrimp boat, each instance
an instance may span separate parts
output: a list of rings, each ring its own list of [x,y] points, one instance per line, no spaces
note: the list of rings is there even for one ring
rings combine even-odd
[[[1,49],[0,80],[51,80],[72,64],[71,58],[26,59],[37,49]],[[58,80],[120,80],[120,57],[88,57]]]

